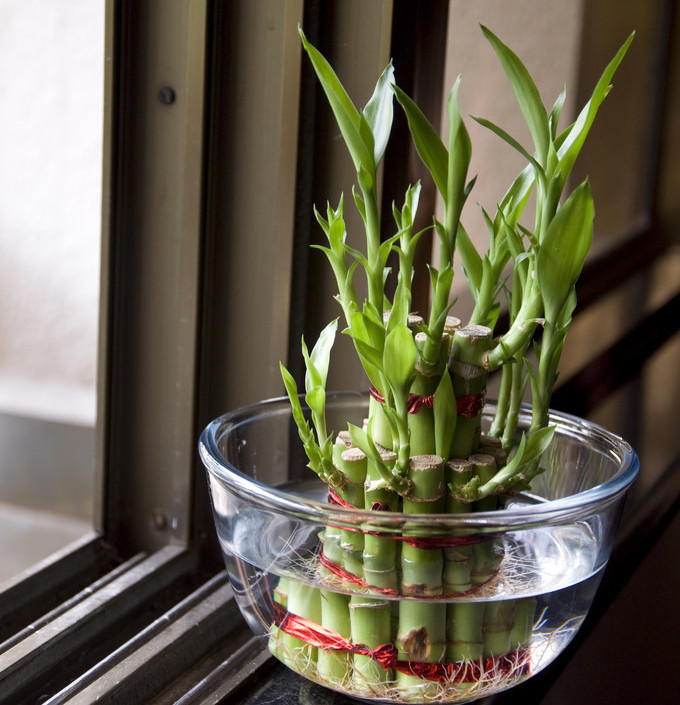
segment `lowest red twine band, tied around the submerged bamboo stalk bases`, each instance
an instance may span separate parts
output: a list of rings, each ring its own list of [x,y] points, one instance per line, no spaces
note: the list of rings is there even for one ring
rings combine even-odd
[[[328,651],[345,651],[369,656],[385,670],[394,668],[402,673],[417,676],[437,683],[465,683],[491,680],[500,675],[529,673],[529,649],[520,647],[499,657],[488,657],[479,661],[456,661],[448,663],[424,663],[404,661],[399,658],[394,644],[381,644],[370,649],[364,644],[353,644],[349,639],[306,617],[288,612],[278,602],[274,603],[274,624],[286,634],[301,639],[310,646]]]

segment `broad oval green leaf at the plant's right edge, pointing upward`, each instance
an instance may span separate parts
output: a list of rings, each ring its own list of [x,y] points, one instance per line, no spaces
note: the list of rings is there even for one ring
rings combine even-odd
[[[590,184],[578,186],[550,222],[536,258],[546,320],[555,324],[578,279],[593,239]]]

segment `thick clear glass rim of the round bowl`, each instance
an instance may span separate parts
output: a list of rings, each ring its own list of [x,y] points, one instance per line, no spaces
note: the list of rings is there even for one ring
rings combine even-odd
[[[334,400],[357,403],[367,400],[362,392],[329,392],[327,401]],[[302,399],[305,408],[304,399]],[[516,508],[505,508],[491,512],[468,512],[461,514],[413,515],[396,512],[373,512],[364,509],[342,507],[328,504],[301,495],[286,492],[277,487],[266,485],[242,473],[230,463],[219,450],[219,441],[239,426],[252,421],[255,416],[270,415],[285,410],[289,401],[286,397],[265,399],[255,404],[241,406],[222,414],[211,421],[203,430],[199,439],[199,454],[209,473],[213,474],[229,491],[241,499],[253,504],[295,515],[298,518],[316,521],[320,524],[339,523],[343,526],[359,526],[370,522],[373,526],[386,530],[399,530],[408,523],[414,528],[414,522],[422,528],[455,530],[467,527],[485,528],[486,531],[501,527],[521,528],[527,525],[553,524],[578,521],[592,514],[600,506],[608,505],[621,498],[634,481],[639,471],[639,459],[636,452],[620,436],[608,431],[594,422],[560,411],[550,411],[550,422],[559,426],[561,434],[568,434],[575,439],[590,443],[599,443],[601,451],[608,453],[618,463],[618,470],[606,482],[587,490],[553,500],[541,500],[539,503]],[[283,408],[282,408],[283,407]],[[493,413],[495,403],[487,401],[485,414]],[[520,412],[520,424],[531,418],[527,405]],[[312,473],[312,471],[309,471]]]

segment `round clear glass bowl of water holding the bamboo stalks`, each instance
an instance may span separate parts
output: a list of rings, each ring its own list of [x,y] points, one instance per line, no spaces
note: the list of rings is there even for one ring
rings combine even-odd
[[[328,427],[361,424],[368,403],[329,394]],[[493,411],[487,404],[486,423]],[[525,409],[520,431],[529,423]],[[213,421],[199,450],[252,631],[293,670],[362,700],[469,702],[538,673],[588,612],[639,467],[604,428],[561,413],[551,423],[531,492],[497,511],[404,515],[329,503],[285,398]],[[376,554],[387,569],[362,570]],[[405,592],[399,576],[416,559],[419,569],[469,575],[472,565],[484,577]]]

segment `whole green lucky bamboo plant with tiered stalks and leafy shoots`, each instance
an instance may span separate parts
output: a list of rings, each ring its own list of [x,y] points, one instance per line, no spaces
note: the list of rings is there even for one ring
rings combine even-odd
[[[473,118],[526,159],[495,212],[482,209],[489,233],[486,252],[475,248],[461,221],[475,179],[468,173],[471,141],[458,107],[460,78],[448,97],[444,141],[396,85],[391,64],[358,110],[326,59],[300,32],[356,169],[353,205],[364,225],[365,249],[347,243],[342,196],[336,207],[329,204],[315,214],[326,237],[319,249],[337,281],[344,332],[352,338],[368,379],[367,420],[362,426],[327,428],[326,380],[337,321],[323,330],[311,352],[302,341],[303,395],[283,365],[281,371],[309,467],[328,484],[329,501],[343,506],[406,515],[501,510],[508,496],[529,488],[551,442],[549,403],[594,217],[587,180],[566,197],[564,192],[633,37],[606,67],[576,120],[559,131],[565,91],[546,108],[516,54],[486,27],[482,32],[500,60],[533,140],[527,148],[502,127]],[[393,205],[394,222],[381,222],[380,217],[378,167],[395,102],[405,113],[442,204],[441,219],[433,215],[430,226],[439,256],[438,264],[429,267],[426,314],[413,312],[411,299],[415,252],[425,232],[414,226],[420,184],[409,186],[400,204]],[[533,214],[528,218],[529,203]],[[465,323],[452,315],[455,252],[475,304]],[[388,297],[392,253],[398,266],[394,294]],[[360,275],[365,277],[365,299],[355,286]],[[509,325],[499,333],[503,306]],[[495,371],[501,375],[499,398],[491,426],[482,432],[487,380]],[[518,438],[520,405],[527,395],[532,423]],[[326,649],[323,640],[279,628],[272,631],[272,649],[298,670],[314,668],[322,682],[361,682],[354,690],[359,694],[367,689],[374,693],[384,683],[402,695],[413,689],[414,699],[425,697],[423,684],[437,681],[427,674],[438,664],[463,664],[472,681],[480,659],[496,659],[499,668],[503,659],[516,665],[534,621],[531,600],[501,605],[382,599],[472,594],[493,579],[502,557],[493,541],[394,541],[329,527],[321,537],[320,570],[359,581],[364,592],[350,598],[282,580],[277,599],[289,612],[369,651],[393,645],[396,663],[407,667],[385,666],[374,653]]]

